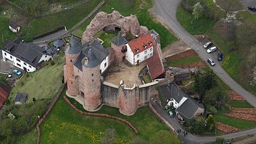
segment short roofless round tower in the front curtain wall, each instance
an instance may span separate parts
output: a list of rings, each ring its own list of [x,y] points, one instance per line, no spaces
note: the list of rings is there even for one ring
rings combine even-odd
[[[119,111],[123,115],[133,115],[136,112],[136,88],[125,89],[124,81],[120,82],[118,95],[120,97],[119,101]]]

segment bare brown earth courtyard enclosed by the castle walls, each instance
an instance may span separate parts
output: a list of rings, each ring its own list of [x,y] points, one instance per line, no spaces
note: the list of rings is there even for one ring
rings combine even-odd
[[[124,81],[128,88],[132,88],[134,83],[141,85],[141,79],[139,77],[140,71],[146,67],[146,61],[140,63],[140,65],[128,66],[124,62],[116,63],[109,67],[108,74],[104,77],[104,81],[113,83],[119,86],[121,79]]]

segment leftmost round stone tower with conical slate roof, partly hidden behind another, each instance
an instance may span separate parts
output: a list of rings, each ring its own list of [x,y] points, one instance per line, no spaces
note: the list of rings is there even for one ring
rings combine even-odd
[[[66,58],[66,77],[67,77],[67,93],[72,96],[79,94],[78,79],[74,76],[74,62],[77,60],[81,53],[81,45],[72,36],[69,43],[66,45],[65,58]]]

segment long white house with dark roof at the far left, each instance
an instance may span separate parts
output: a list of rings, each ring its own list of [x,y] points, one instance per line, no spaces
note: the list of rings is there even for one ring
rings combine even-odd
[[[24,43],[21,40],[6,40],[2,49],[3,61],[12,61],[15,67],[26,72],[34,72],[44,61],[49,61],[52,56],[46,50],[33,43]]]

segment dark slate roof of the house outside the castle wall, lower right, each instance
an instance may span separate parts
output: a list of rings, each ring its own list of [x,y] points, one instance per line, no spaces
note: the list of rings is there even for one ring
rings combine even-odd
[[[204,106],[191,98],[188,93],[180,90],[175,82],[171,83],[169,86],[167,84],[160,86],[160,91],[163,95],[169,95],[178,103],[183,97],[188,98],[185,100],[185,102],[183,102],[181,106],[179,106],[179,108],[176,109],[176,111],[178,111],[181,115],[185,116],[188,119],[193,118],[198,108],[204,109]]]

